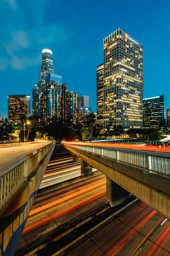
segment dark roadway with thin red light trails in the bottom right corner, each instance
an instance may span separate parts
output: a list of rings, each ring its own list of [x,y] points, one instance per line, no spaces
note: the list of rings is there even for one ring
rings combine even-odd
[[[141,202],[105,227],[89,233],[88,239],[67,255],[168,256],[169,234],[170,222]]]

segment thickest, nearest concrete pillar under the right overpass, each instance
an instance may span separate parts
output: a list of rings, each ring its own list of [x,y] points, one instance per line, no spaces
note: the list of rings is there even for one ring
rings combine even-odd
[[[123,203],[127,199],[127,191],[106,177],[106,201],[111,207]]]

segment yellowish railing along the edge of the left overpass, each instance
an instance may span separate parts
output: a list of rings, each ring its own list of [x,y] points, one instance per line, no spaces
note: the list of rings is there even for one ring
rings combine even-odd
[[[18,187],[27,180],[28,176],[53,148],[54,144],[55,142],[45,145],[27,156],[0,168],[0,210]]]

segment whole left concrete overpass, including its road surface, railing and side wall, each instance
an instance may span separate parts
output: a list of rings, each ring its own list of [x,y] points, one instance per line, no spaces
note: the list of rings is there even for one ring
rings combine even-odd
[[[13,256],[55,142],[0,147],[0,256]]]

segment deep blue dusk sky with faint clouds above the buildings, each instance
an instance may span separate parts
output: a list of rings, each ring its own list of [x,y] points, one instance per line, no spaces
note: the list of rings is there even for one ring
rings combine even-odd
[[[170,1],[1,0],[0,10],[1,116],[8,94],[31,94],[44,48],[68,90],[89,95],[96,111],[103,38],[118,27],[143,43],[144,97],[165,94],[170,107]]]

